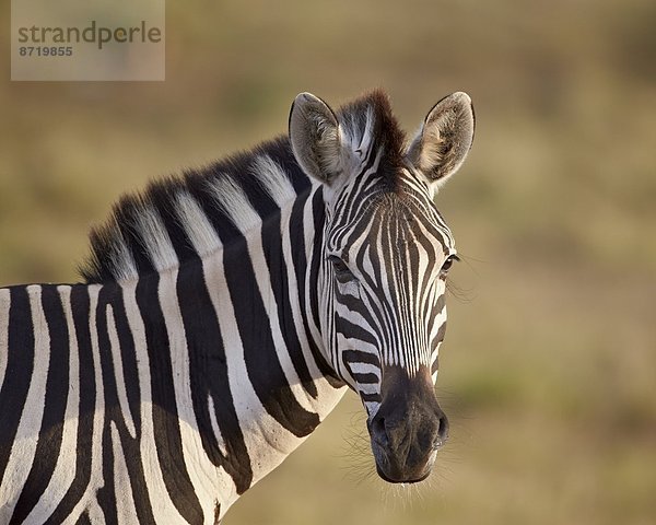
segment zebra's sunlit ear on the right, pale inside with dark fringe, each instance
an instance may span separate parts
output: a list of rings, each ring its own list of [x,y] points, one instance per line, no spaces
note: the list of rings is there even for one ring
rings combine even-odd
[[[465,162],[473,141],[471,98],[454,93],[442,98],[408,149],[408,159],[430,180],[442,186]]]

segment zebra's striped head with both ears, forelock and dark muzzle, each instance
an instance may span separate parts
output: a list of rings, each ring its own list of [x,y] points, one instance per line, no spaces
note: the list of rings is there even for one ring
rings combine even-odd
[[[360,395],[377,471],[391,482],[426,478],[447,438],[434,384],[457,256],[434,197],[472,139],[465,93],[438,102],[409,144],[380,92],[338,113],[303,93],[290,115],[294,155],[325,202],[326,355]]]

